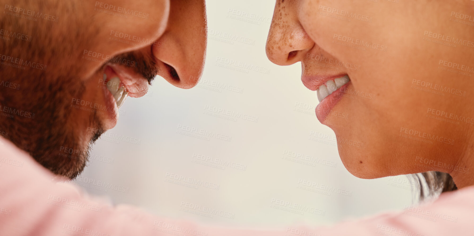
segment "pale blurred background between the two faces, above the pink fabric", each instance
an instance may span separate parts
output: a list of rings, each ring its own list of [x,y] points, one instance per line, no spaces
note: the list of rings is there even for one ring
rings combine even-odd
[[[301,64],[265,55],[274,0],[206,3],[199,84],[157,77],[128,98],[75,184],[158,216],[248,227],[330,225],[417,201],[406,176],[358,179],[344,168]]]

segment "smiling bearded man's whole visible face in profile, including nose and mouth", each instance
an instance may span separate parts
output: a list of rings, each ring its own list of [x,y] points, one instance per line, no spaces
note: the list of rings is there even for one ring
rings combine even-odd
[[[75,178],[91,143],[155,75],[191,88],[206,49],[204,0],[47,0],[2,6],[0,131],[56,174]],[[46,17],[38,17],[37,13]],[[29,62],[29,63],[28,63]],[[18,87],[18,89],[17,89]]]

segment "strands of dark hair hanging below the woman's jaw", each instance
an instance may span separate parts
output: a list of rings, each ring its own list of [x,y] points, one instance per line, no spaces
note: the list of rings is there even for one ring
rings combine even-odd
[[[411,175],[419,188],[419,200],[438,197],[439,194],[457,189],[453,177],[440,171],[428,171]]]

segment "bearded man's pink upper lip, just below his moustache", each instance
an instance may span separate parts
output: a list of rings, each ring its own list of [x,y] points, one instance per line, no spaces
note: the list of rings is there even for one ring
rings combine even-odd
[[[148,92],[148,80],[132,68],[121,65],[110,65],[110,68],[117,73],[120,82],[127,89],[128,96],[141,97]]]

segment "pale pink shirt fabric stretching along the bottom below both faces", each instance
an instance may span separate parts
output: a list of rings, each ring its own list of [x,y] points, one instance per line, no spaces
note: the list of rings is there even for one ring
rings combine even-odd
[[[0,138],[0,236],[461,236],[474,235],[474,187],[332,227],[224,228],[156,217],[93,199]]]

